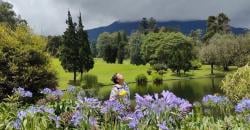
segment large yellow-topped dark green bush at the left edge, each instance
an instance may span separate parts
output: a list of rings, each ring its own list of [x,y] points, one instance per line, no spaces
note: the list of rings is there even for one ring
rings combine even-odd
[[[46,39],[35,35],[26,26],[15,30],[0,25],[0,99],[23,87],[36,97],[44,87],[55,88],[56,76],[45,50]],[[10,35],[11,34],[11,35]]]

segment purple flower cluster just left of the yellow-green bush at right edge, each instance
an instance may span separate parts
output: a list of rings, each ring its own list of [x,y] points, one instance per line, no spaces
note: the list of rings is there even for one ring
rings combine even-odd
[[[202,102],[220,104],[229,102],[229,99],[225,96],[207,95],[203,97]]]

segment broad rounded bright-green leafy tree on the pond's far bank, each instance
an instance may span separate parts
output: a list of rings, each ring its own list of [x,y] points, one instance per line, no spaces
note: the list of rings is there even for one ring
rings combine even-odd
[[[178,75],[191,68],[193,46],[181,33],[149,33],[143,38],[142,53],[147,62],[164,63]]]

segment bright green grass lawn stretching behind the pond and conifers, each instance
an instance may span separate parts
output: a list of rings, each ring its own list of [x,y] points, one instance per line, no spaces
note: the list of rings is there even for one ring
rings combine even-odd
[[[73,73],[65,72],[60,65],[60,61],[56,58],[51,60],[51,65],[57,73],[58,84],[61,89],[67,88],[69,81],[73,79]],[[88,73],[94,74],[98,77],[98,82],[102,84],[111,84],[111,76],[116,73],[122,73],[125,77],[126,82],[134,82],[135,77],[138,74],[146,74],[146,71],[150,68],[149,65],[131,65],[129,60],[124,61],[123,64],[107,64],[102,59],[95,59],[94,69]],[[231,67],[231,71],[235,70],[235,67]],[[214,70],[215,76],[224,76],[227,72],[221,71],[220,68]],[[151,76],[147,75],[148,79],[151,80]],[[208,77],[210,76],[210,66],[203,65],[199,70],[191,70],[185,75],[178,77],[175,73],[172,73],[170,70],[164,74],[164,80],[167,79],[179,79],[179,78],[199,78],[199,77]],[[79,77],[79,75],[78,75]]]

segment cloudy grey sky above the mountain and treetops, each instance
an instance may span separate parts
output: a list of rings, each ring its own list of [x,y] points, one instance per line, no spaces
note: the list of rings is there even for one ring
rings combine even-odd
[[[86,29],[134,21],[142,17],[157,20],[207,19],[226,13],[231,25],[250,28],[250,0],[5,0],[26,19],[37,33],[62,34],[67,11],[77,18],[82,12]]]

